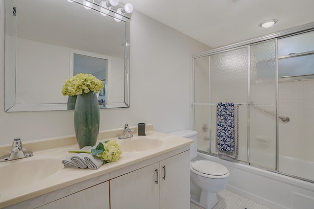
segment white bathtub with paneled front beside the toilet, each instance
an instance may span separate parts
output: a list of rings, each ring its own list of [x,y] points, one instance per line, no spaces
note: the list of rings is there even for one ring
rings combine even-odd
[[[198,153],[197,160],[209,160],[223,164],[230,171],[227,190],[260,203],[271,209],[314,209],[314,183],[292,178],[276,172],[267,171],[244,163],[234,163],[215,156]],[[285,172],[302,167],[303,174],[309,172],[313,177],[312,162],[301,165],[295,161],[291,165],[289,157],[279,157],[280,169]],[[290,162],[289,162],[290,161]],[[308,164],[312,165],[312,169]],[[308,171],[304,171],[308,168]],[[294,174],[293,174],[294,175]],[[303,177],[304,178],[304,177]]]

